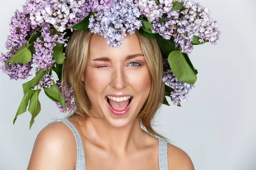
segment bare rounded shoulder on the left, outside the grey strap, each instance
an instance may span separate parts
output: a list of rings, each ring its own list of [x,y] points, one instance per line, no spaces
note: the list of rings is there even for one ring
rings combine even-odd
[[[35,139],[27,170],[74,170],[76,139],[63,122],[44,127]]]

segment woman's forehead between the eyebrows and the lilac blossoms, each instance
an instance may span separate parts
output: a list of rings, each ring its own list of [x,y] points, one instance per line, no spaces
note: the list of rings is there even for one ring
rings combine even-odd
[[[93,34],[90,41],[90,59],[97,57],[125,57],[130,54],[143,54],[140,40],[136,33],[126,33],[126,37],[122,39],[122,44],[116,48],[111,47],[107,43],[107,39],[99,34]]]

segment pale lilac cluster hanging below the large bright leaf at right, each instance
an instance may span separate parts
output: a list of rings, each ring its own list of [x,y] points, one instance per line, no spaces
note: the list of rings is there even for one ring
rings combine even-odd
[[[173,88],[175,91],[171,91],[171,98],[174,105],[180,104],[181,100],[186,102],[189,97],[189,91],[195,88],[195,85],[188,84],[186,82],[181,82],[180,80],[175,77],[173,74],[168,59],[163,59],[163,79],[162,81],[168,85],[169,87]]]

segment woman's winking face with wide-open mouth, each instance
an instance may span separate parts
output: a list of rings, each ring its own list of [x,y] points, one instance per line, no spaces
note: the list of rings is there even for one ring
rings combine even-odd
[[[137,55],[127,58],[134,54]],[[107,44],[104,37],[93,34],[85,78],[82,77],[82,81],[92,103],[93,115],[103,117],[113,127],[124,127],[133,121],[151,87],[151,74],[137,35],[127,33],[122,45],[114,48]],[[126,114],[116,116],[111,112],[106,102],[106,96],[111,94],[128,94],[133,97]]]

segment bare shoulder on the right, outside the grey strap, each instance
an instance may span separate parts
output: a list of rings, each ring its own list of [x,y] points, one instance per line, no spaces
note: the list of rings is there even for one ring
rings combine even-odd
[[[167,144],[168,165],[170,170],[195,170],[189,155],[173,144]]]

